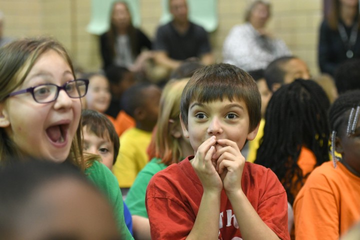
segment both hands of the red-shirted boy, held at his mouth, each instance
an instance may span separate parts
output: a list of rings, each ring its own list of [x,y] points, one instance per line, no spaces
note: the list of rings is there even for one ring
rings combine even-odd
[[[241,190],[245,158],[235,142],[211,136],[197,148],[191,164],[204,191]]]

